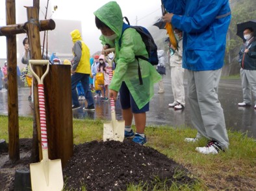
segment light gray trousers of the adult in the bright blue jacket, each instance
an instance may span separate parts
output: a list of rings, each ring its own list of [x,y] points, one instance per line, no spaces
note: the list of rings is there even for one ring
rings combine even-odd
[[[223,149],[229,147],[222,106],[218,100],[221,69],[215,71],[188,71],[188,103],[192,125]],[[197,135],[197,137],[199,137]]]

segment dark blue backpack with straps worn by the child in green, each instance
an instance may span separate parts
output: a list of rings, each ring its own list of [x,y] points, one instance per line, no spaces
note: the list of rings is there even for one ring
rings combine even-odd
[[[155,44],[155,41],[154,41],[153,37],[151,36],[150,32],[147,30],[147,28],[142,27],[142,26],[131,26],[127,17],[124,17],[124,18],[128,24],[123,23],[122,34],[121,34],[121,38],[119,40],[119,46],[121,47],[121,43],[122,43],[121,39],[123,36],[123,32],[127,28],[134,28],[138,32],[138,34],[140,34],[142,41],[144,42],[144,44],[146,46],[148,58],[146,58],[145,56],[142,56],[142,55],[135,55],[136,60],[138,60],[138,76],[139,76],[140,84],[143,84],[142,76],[140,73],[139,58],[142,60],[146,60],[147,62],[150,62],[151,65],[157,65],[159,63],[159,59],[157,56],[157,45]]]

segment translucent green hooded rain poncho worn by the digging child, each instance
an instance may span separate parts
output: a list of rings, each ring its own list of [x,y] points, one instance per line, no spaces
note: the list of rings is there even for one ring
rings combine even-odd
[[[101,43],[108,43],[110,47],[116,48],[116,70],[109,89],[119,91],[122,82],[127,85],[139,109],[144,107],[154,95],[153,84],[161,80],[161,76],[151,63],[139,60],[143,85],[138,78],[138,62],[135,55],[148,57],[146,47],[134,28],[127,28],[122,35],[121,47],[119,39],[122,34],[123,16],[120,6],[115,1],[101,6],[94,15],[117,34],[113,41],[100,36]]]

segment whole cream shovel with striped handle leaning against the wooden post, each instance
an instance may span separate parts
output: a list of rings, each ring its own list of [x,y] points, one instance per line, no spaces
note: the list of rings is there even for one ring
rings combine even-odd
[[[31,65],[47,65],[45,73],[41,79],[34,73]],[[45,102],[44,102],[44,84],[43,80],[49,72],[49,60],[29,60],[29,68],[31,73],[38,81],[38,101],[40,113],[40,128],[41,128],[41,142],[42,142],[42,161],[39,163],[30,164],[31,170],[31,185],[32,190],[53,190],[59,191],[63,188],[63,176],[60,159],[48,159],[47,147],[47,128],[46,128],[46,115],[45,115]]]

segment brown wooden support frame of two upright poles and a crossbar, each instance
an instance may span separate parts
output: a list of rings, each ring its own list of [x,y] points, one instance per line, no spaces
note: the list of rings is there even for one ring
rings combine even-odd
[[[17,84],[17,42],[16,34],[27,32],[30,40],[31,58],[41,59],[40,34],[42,30],[53,30],[55,22],[52,19],[38,21],[39,0],[34,0],[36,7],[27,7],[28,22],[16,25],[16,3],[15,0],[6,0],[6,24],[0,27],[0,36],[6,36],[7,43],[7,62],[8,62],[8,150],[11,161],[19,160],[19,124],[18,124],[18,84]],[[31,32],[29,32],[31,31]],[[35,69],[38,74],[42,69]],[[34,83],[36,86],[36,83]],[[34,96],[38,96],[37,87],[34,87]],[[34,103],[38,107],[37,103]],[[36,112],[36,124],[34,131],[40,129],[39,113]],[[37,131],[33,134],[38,135]],[[40,135],[38,135],[40,136]],[[36,144],[38,144],[36,139]],[[41,148],[41,146],[39,147]],[[40,152],[39,152],[40,153]],[[35,154],[35,153],[34,153]],[[33,153],[32,153],[33,155]]]

